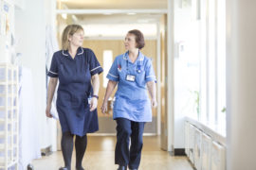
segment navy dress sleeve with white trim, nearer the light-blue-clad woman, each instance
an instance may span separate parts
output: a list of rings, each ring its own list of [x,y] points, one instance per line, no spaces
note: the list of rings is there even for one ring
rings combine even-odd
[[[101,74],[101,72],[103,72],[103,69],[101,67],[100,62],[98,61],[98,59],[96,58],[94,52],[92,50],[89,50],[89,69],[90,69],[90,73],[91,76],[94,76],[96,74]]]

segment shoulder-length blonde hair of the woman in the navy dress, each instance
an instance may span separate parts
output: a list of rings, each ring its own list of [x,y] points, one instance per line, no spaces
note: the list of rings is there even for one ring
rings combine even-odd
[[[69,49],[68,37],[74,35],[79,30],[83,31],[83,28],[80,25],[65,26],[64,32],[63,32],[63,37],[62,37],[62,48],[63,48],[63,50],[68,50]]]

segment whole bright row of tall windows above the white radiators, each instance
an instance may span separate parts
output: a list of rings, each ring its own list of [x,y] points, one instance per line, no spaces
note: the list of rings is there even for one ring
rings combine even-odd
[[[175,113],[183,111],[221,132],[226,130],[225,9],[222,0],[192,0],[191,7],[176,9],[174,33]]]

